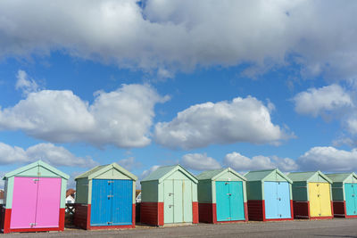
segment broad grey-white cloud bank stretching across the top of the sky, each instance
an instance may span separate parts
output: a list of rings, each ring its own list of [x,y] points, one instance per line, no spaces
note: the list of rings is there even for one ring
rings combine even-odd
[[[355,8],[354,1],[305,0],[1,1],[0,55],[60,49],[163,76],[172,68],[264,68],[290,59],[306,76],[355,78]]]

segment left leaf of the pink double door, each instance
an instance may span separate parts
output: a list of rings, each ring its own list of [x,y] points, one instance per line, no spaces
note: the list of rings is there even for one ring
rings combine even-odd
[[[37,204],[36,177],[14,177],[10,228],[31,228]]]

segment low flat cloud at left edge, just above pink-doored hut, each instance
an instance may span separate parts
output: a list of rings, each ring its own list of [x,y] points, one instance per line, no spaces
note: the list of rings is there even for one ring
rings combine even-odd
[[[77,157],[62,146],[54,144],[36,144],[30,146],[27,150],[18,146],[0,143],[0,163],[27,163],[36,160],[44,160],[53,166],[74,166],[83,168],[92,168],[97,163],[90,157]]]

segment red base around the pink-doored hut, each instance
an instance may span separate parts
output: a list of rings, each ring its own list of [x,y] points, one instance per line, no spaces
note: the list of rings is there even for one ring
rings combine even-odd
[[[64,230],[64,215],[65,209],[60,209],[60,217],[59,217],[59,224],[58,227],[44,227],[44,228],[16,228],[11,229],[11,213],[12,209],[4,209],[2,208],[2,225],[1,228],[3,229],[4,234],[7,233],[22,233],[22,232],[47,232],[47,231],[63,231]]]

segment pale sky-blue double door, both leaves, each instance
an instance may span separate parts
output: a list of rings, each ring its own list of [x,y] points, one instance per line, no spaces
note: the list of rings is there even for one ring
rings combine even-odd
[[[291,218],[290,187],[287,182],[264,182],[265,218]]]

